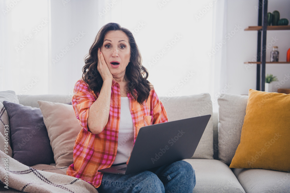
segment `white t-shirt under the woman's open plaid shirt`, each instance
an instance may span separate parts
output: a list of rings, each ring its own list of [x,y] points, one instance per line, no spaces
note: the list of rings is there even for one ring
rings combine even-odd
[[[133,150],[134,126],[128,97],[121,97],[120,114],[117,155],[113,164],[126,163]]]

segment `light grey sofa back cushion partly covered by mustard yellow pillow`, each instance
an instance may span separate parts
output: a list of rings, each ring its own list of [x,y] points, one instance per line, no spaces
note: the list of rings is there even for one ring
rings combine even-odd
[[[248,96],[221,94],[218,98],[218,156],[230,165],[240,144]]]

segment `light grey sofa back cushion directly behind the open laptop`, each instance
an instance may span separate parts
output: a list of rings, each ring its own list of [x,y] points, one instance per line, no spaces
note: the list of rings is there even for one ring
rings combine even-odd
[[[181,97],[159,97],[168,115],[175,121],[202,115],[213,115],[209,93]],[[207,124],[192,158],[213,159],[213,116]]]

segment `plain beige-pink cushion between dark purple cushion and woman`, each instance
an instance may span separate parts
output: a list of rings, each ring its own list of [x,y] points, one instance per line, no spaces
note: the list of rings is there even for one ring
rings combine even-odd
[[[81,130],[73,106],[63,103],[37,101],[47,128],[56,167],[73,163],[73,146]]]

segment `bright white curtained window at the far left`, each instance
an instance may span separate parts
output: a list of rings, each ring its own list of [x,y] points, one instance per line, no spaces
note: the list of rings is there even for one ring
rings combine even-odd
[[[47,93],[48,1],[0,1],[0,90]]]

